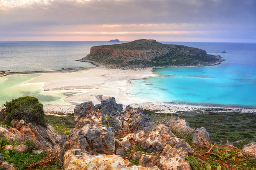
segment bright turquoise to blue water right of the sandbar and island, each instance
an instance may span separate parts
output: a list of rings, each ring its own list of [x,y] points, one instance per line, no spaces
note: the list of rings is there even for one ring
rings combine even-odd
[[[177,44],[177,43],[176,43]],[[180,42],[227,61],[193,68],[156,68],[168,77],[132,81],[130,94],[156,102],[256,107],[256,44]],[[226,50],[226,54],[220,53]]]

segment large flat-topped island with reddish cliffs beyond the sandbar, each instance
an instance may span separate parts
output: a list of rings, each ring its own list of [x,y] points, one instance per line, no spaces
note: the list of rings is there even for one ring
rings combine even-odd
[[[96,62],[108,67],[147,68],[216,65],[224,59],[198,48],[143,39],[92,47],[90,54],[79,61]]]

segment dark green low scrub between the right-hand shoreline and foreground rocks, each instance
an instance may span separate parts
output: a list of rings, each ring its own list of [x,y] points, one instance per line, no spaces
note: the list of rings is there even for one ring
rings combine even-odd
[[[144,114],[149,114],[152,122],[166,119],[165,113],[156,112],[144,110]],[[244,144],[256,142],[255,113],[218,112],[212,110],[178,111],[173,113],[172,116],[185,119],[192,128],[205,127],[209,132],[210,142],[212,143],[218,144],[221,140],[228,140],[241,149]]]

